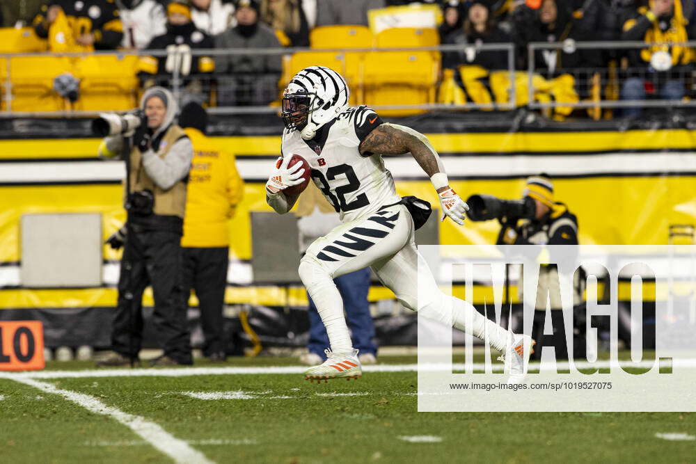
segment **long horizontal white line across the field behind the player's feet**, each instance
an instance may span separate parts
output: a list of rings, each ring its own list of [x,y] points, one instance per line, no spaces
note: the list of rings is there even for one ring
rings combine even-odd
[[[557,362],[557,369],[569,369],[571,363],[568,361]],[[619,367],[653,367],[654,361],[641,361],[633,363],[631,361],[597,361],[574,362],[577,369],[592,369],[598,367],[600,369],[619,369]],[[553,369],[552,363],[530,362],[530,370],[536,370],[539,367],[544,369]],[[674,369],[696,369],[696,359],[675,359],[672,362],[662,362],[661,366],[672,366]],[[484,363],[475,362],[472,365],[473,369],[482,371],[485,368]],[[420,371],[446,371],[454,369],[456,371],[464,370],[464,364],[432,364],[420,367]],[[27,372],[1,372],[0,378],[20,379],[20,378],[91,378],[91,377],[187,377],[187,376],[211,376],[211,375],[237,375],[237,374],[303,374],[307,370],[306,366],[267,366],[267,367],[184,367],[171,369],[94,369],[82,371],[27,371]],[[365,372],[416,372],[418,364],[398,364],[398,365],[373,365],[363,366]],[[502,371],[503,365],[498,363],[493,365],[493,371]]]

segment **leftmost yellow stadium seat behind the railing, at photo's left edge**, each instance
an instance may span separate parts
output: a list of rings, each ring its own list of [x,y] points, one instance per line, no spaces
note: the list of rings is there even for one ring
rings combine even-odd
[[[69,109],[67,101],[53,90],[53,79],[58,74],[72,70],[70,58],[17,56],[7,59],[10,61],[12,111],[63,111]],[[5,74],[4,70],[3,74]],[[3,109],[7,109],[7,102],[3,102]]]

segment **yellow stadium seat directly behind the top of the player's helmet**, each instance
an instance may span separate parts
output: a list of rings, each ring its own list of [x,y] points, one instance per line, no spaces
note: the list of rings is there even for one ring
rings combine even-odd
[[[280,87],[285,88],[290,79],[305,67],[309,66],[330,67],[338,74],[345,77],[351,90],[350,104],[361,104],[362,97],[362,72],[363,54],[359,52],[334,52],[334,51],[299,51],[288,59],[284,66],[283,79]]]

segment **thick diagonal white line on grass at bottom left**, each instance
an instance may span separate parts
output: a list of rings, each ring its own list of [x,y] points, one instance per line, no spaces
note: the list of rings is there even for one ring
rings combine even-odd
[[[143,440],[150,443],[155,449],[166,454],[166,456],[169,456],[177,463],[213,463],[213,461],[205,457],[205,454],[191,448],[184,440],[175,438],[159,425],[155,424],[155,422],[150,422],[144,417],[124,413],[120,409],[106,406],[102,401],[99,401],[95,397],[90,397],[88,394],[63,390],[50,383],[40,382],[26,377],[15,377],[13,380],[38,388],[42,392],[59,394],[61,397],[79,404],[79,406],[82,406],[92,413],[116,419],[118,422],[134,431]]]

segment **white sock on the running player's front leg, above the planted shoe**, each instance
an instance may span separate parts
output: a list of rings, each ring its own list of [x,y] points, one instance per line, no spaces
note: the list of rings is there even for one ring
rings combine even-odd
[[[343,315],[343,300],[340,291],[331,278],[321,279],[307,289],[312,297],[319,316],[322,318],[326,335],[329,335],[331,351],[334,353],[351,353],[353,343]]]

